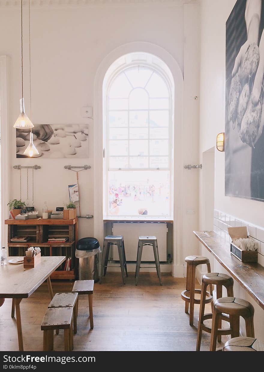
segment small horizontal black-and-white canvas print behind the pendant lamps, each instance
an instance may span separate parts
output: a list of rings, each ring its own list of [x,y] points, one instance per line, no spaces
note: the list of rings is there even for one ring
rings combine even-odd
[[[35,124],[33,142],[39,155],[33,158],[87,158],[89,150],[88,124]],[[16,157],[29,144],[29,130],[16,129]]]

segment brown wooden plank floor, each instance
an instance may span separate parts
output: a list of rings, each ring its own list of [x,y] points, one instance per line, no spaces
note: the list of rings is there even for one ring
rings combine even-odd
[[[123,285],[120,273],[107,273],[94,285],[94,329],[89,328],[88,296],[79,296],[78,333],[74,350],[90,351],[177,351],[195,350],[199,305],[195,305],[194,327],[184,312],[180,294],[185,279],[155,273],[140,273],[138,286],[129,273]],[[73,282],[53,281],[53,292],[70,292]],[[197,288],[199,288],[197,282]],[[21,302],[24,350],[43,350],[40,329],[50,302],[47,283]],[[16,319],[11,318],[11,299],[0,308],[0,350],[18,350]],[[207,305],[210,312],[210,305]],[[226,337],[223,337],[223,341]],[[201,350],[209,350],[210,335],[203,334]],[[63,350],[63,331],[54,335],[54,350]],[[221,344],[218,345],[220,347]]]

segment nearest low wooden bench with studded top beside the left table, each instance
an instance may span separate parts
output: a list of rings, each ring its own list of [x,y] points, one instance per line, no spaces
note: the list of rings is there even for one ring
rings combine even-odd
[[[53,350],[54,330],[64,330],[64,350],[73,350],[73,332],[72,332],[72,307],[54,307],[48,308],[43,321],[41,330],[43,332],[43,351]]]

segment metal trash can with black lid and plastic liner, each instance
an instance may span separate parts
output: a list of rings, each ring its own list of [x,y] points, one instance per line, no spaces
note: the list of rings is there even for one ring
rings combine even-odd
[[[100,252],[100,244],[96,238],[78,240],[75,256],[79,259],[79,280],[94,279],[94,282],[98,282],[98,253]]]

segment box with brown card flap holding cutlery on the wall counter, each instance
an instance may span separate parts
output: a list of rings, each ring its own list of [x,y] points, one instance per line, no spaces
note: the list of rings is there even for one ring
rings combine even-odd
[[[230,253],[241,262],[258,262],[258,251],[244,251],[233,243],[236,239],[248,238],[246,226],[229,227],[228,232],[232,239],[232,243],[230,244]]]

